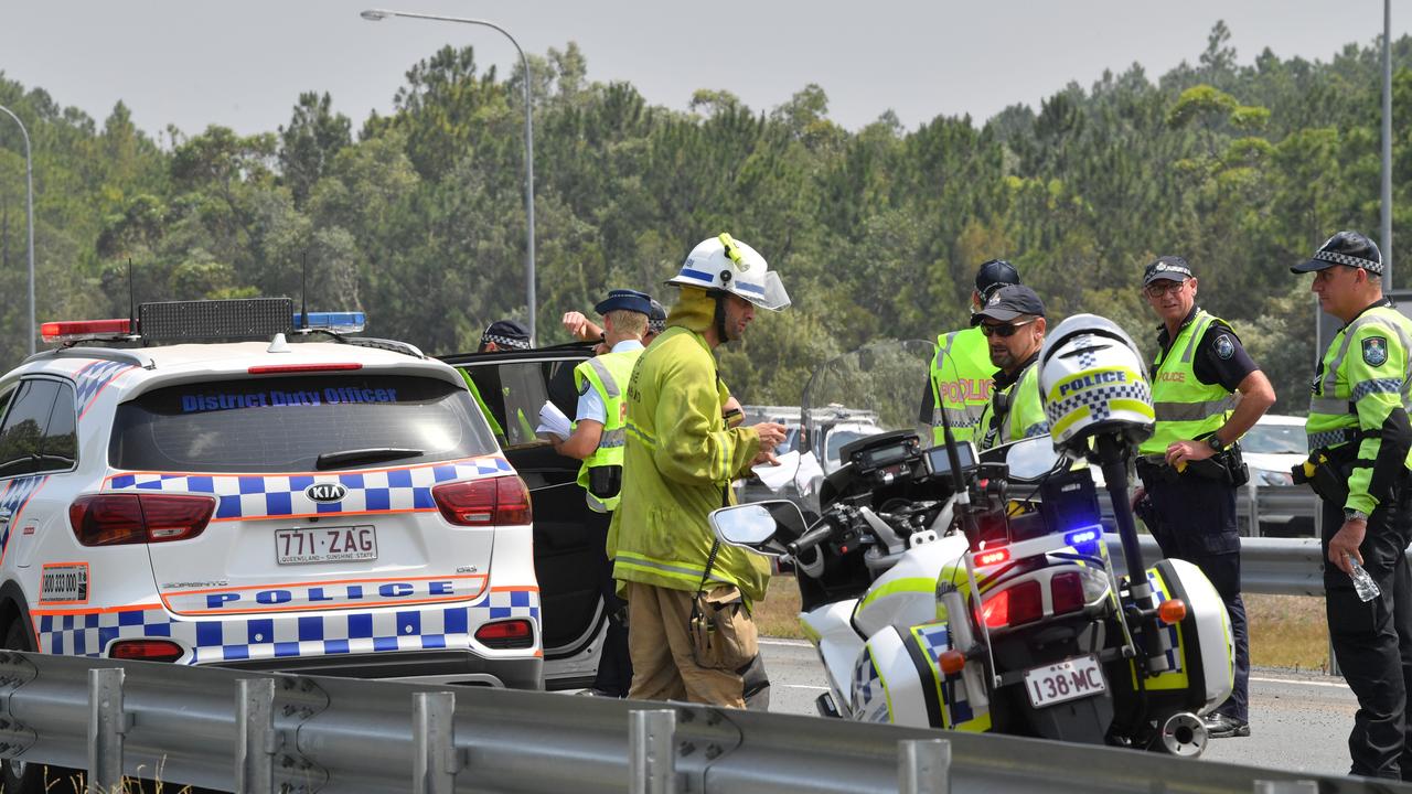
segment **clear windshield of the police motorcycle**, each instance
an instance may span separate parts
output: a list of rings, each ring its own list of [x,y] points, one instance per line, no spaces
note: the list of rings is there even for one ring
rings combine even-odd
[[[928,373],[936,345],[882,339],[825,362],[810,374],[799,405],[799,463],[795,482],[818,511],[819,485],[846,461],[850,442],[909,429],[931,446],[933,415]]]

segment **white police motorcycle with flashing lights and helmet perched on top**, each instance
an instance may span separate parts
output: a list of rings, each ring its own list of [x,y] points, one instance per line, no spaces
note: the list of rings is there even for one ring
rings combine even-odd
[[[810,404],[888,428],[801,487],[818,520],[779,500],[712,514],[723,543],[792,562],[829,684],[819,712],[1200,754],[1197,715],[1231,689],[1230,619],[1195,565],[1142,561],[1127,483],[1152,407],[1131,339],[1093,315],[1060,324],[1036,365],[1053,435],[980,456],[949,427],[933,448],[915,429],[935,350],[880,342],[810,377],[805,438]],[[1114,574],[1090,463],[1125,569],[1147,576]]]

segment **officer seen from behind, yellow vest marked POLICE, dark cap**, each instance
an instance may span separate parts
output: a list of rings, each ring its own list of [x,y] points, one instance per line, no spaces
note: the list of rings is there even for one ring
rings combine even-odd
[[[986,308],[991,294],[1007,284],[1019,284],[1015,266],[1001,259],[981,264],[976,271],[976,290],[971,291],[971,311]],[[946,441],[942,411],[947,413],[956,441],[979,441],[976,428],[980,427],[981,411],[990,403],[995,373],[987,338],[973,322],[971,328],[939,335],[936,349],[928,383],[932,410],[931,417],[923,417],[932,425],[932,444]],[[926,404],[923,400],[923,413]]]

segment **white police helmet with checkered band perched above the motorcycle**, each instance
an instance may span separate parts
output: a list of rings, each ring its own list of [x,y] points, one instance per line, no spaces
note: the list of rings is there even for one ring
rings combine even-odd
[[[1091,314],[1059,324],[1039,350],[1039,396],[1055,449],[1083,454],[1113,432],[1138,444],[1152,435],[1152,389],[1137,345]]]

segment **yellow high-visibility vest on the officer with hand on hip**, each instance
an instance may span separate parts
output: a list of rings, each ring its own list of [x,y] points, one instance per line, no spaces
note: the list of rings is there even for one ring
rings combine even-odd
[[[1196,379],[1196,349],[1213,322],[1224,322],[1206,311],[1180,328],[1166,350],[1152,362],[1152,415],[1156,429],[1138,446],[1141,455],[1165,455],[1178,441],[1216,432],[1226,424],[1236,400],[1219,383]]]

